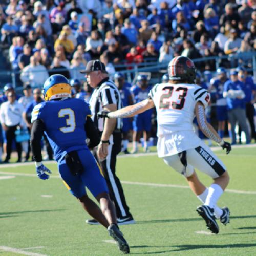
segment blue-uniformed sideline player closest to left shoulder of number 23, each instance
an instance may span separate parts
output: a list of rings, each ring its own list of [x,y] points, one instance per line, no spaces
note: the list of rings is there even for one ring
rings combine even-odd
[[[134,103],[138,103],[142,100],[147,99],[148,93],[151,90],[151,87],[148,86],[147,76],[139,75],[137,78],[138,85],[135,85],[131,88]],[[138,142],[141,137],[141,132],[144,131],[144,151],[148,152],[148,140],[150,139],[150,130],[151,130],[151,115],[153,110],[147,110],[139,115],[134,117],[133,121],[133,153],[138,152]]]

